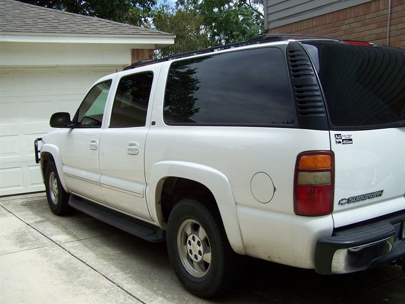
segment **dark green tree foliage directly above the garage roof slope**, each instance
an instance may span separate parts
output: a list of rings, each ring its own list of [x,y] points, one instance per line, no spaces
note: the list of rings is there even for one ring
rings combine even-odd
[[[144,25],[156,0],[20,0],[28,4],[112,21]]]

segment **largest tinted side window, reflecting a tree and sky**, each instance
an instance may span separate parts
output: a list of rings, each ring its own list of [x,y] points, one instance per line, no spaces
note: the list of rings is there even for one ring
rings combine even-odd
[[[164,118],[168,124],[294,126],[284,53],[260,48],[174,62]]]

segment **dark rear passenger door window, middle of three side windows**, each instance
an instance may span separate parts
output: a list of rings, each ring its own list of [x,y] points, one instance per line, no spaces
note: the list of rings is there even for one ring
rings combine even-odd
[[[145,126],[152,81],[152,72],[121,78],[114,98],[110,127]]]

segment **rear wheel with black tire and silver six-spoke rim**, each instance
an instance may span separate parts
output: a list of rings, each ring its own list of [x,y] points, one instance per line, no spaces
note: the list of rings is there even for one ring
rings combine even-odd
[[[172,267],[190,292],[208,298],[232,286],[237,254],[229,245],[219,211],[205,198],[176,204],[168,221],[167,246]]]

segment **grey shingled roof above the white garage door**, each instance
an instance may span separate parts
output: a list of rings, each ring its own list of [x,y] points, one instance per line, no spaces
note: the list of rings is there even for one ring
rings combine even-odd
[[[38,7],[15,0],[0,0],[0,32],[174,37],[166,32]]]

